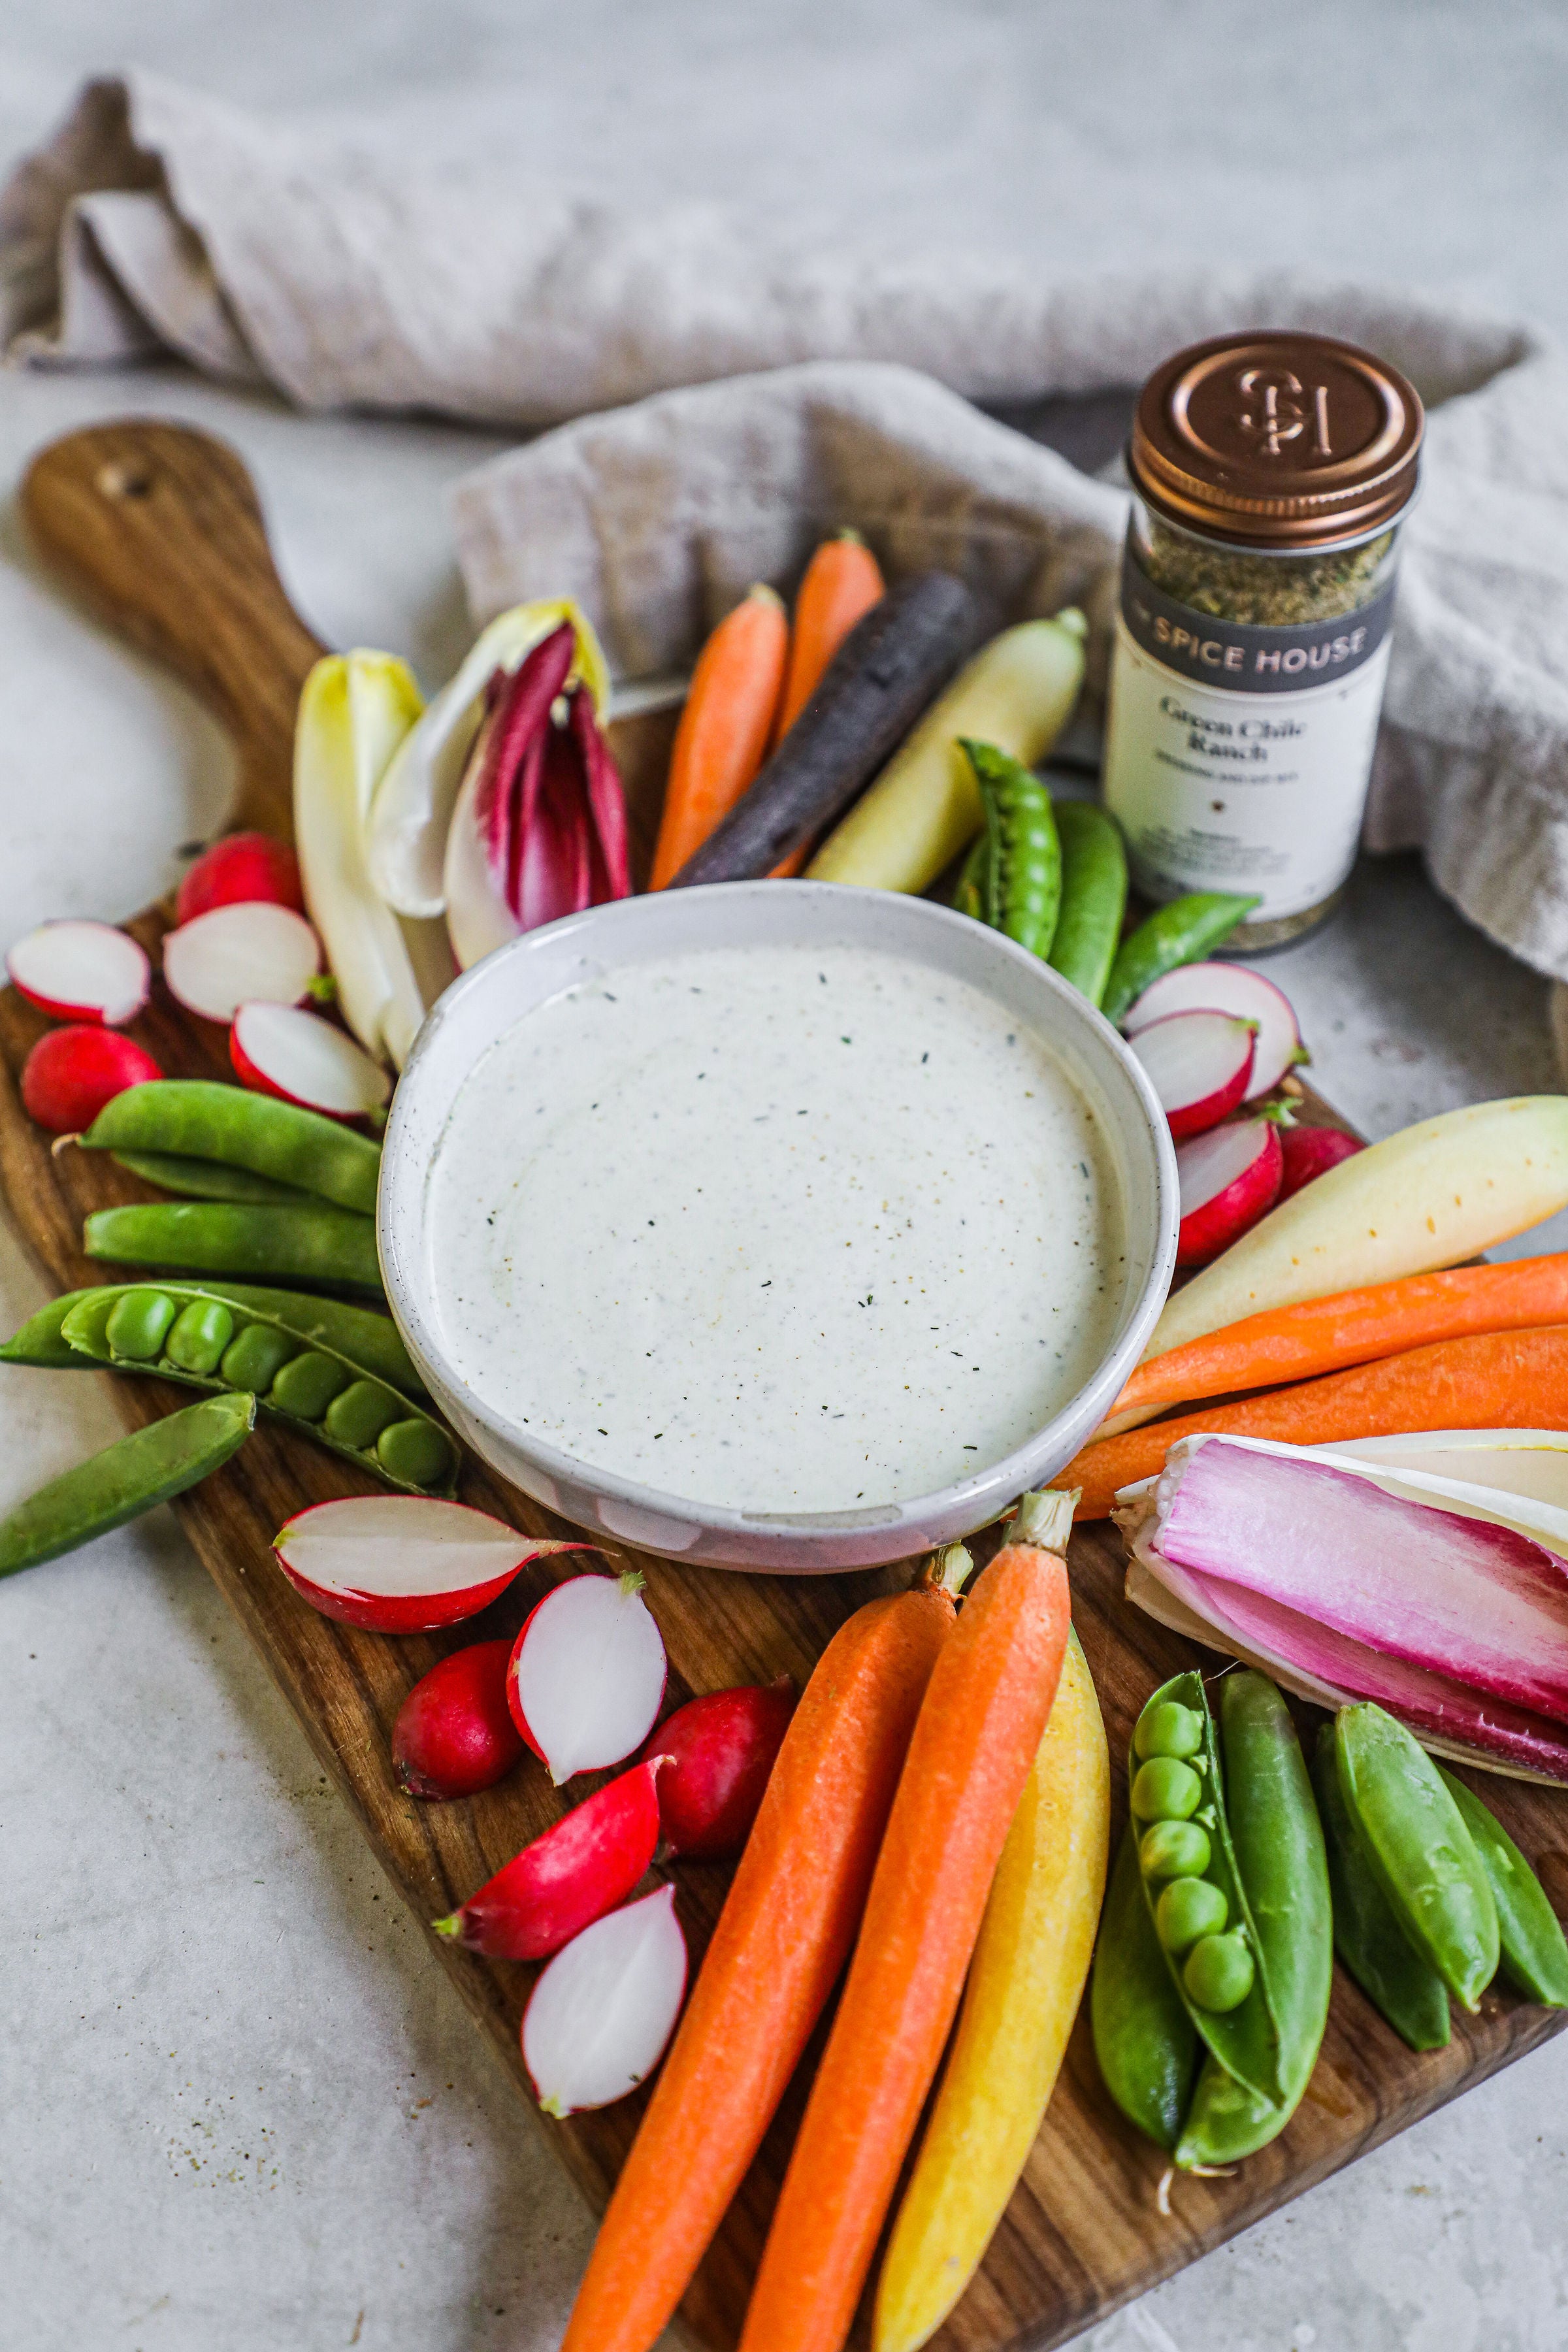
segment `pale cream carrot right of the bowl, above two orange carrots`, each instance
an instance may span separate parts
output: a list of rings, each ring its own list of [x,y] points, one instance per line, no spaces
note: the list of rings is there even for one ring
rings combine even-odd
[[[1563,1207],[1566,1096],[1446,1110],[1281,1202],[1166,1301],[1145,1359],[1267,1308],[1462,1265]]]

